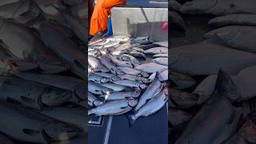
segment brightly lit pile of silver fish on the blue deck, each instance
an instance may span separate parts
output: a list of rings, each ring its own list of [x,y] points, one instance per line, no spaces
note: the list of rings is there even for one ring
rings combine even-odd
[[[101,38],[89,42],[88,54],[88,115],[129,113],[130,122],[134,122],[165,106],[167,41]]]

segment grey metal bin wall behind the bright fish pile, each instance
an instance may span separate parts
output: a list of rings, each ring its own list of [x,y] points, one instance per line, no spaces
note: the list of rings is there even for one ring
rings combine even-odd
[[[168,39],[168,29],[162,30],[163,22],[168,22],[167,8],[114,7],[111,21],[114,36],[149,36],[153,41]]]

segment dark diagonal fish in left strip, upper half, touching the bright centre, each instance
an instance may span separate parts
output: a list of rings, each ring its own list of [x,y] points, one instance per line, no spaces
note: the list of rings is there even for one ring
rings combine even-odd
[[[49,46],[50,50],[68,62],[74,74],[86,78],[87,58],[85,51],[82,51],[75,42],[65,37],[49,22],[42,22],[39,31],[46,46]]]

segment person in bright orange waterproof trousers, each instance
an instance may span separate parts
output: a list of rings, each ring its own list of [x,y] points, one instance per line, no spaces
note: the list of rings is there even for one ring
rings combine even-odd
[[[114,6],[121,6],[125,0],[97,0],[94,12],[90,18],[90,38],[100,38],[106,32],[107,19],[110,9]]]

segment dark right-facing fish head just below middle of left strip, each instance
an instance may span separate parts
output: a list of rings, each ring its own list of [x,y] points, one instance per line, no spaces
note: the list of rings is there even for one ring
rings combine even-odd
[[[69,90],[47,88],[42,94],[42,103],[47,106],[56,106],[62,102],[66,102],[72,97],[72,92]]]

